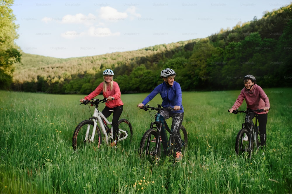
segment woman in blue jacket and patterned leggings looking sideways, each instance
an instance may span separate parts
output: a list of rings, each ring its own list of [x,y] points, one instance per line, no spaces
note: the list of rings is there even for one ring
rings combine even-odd
[[[139,108],[145,106],[150,100],[152,100],[157,94],[160,94],[162,98],[162,107],[172,107],[174,111],[165,111],[162,110],[160,114],[164,119],[169,119],[172,117],[172,128],[173,135],[175,138],[176,144],[176,156],[175,161],[181,161],[182,152],[181,152],[181,137],[179,134],[180,126],[183,122],[184,109],[182,105],[182,90],[180,84],[174,81],[175,71],[166,68],[161,71],[160,77],[163,78],[164,82],[159,84],[144,100],[142,103],[138,104]]]

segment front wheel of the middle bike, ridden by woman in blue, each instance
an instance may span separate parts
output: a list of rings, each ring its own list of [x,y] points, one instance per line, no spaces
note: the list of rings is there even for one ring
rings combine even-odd
[[[152,142],[154,139],[156,140],[156,142]],[[158,138],[158,133],[154,129],[148,129],[144,133],[140,142],[140,157],[157,162],[160,158],[160,154],[161,143]]]

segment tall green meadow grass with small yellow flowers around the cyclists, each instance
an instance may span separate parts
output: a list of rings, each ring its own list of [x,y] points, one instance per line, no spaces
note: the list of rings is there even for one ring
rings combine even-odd
[[[116,149],[93,143],[74,152],[74,129],[91,117],[88,106],[79,105],[83,95],[0,91],[0,193],[292,193],[292,89],[265,90],[267,147],[250,160],[234,151],[243,114],[227,112],[239,92],[183,93],[183,160],[174,164],[162,154],[154,164],[138,153],[150,116],[137,104],[147,94],[121,97],[121,118],[133,126],[131,143]],[[157,104],[159,96],[150,101]]]

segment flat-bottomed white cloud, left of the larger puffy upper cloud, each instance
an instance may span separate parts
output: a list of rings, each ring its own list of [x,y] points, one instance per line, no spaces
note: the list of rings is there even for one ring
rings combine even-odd
[[[76,15],[65,15],[62,18],[63,24],[85,24],[92,25],[96,22],[96,18],[93,14],[89,13],[87,16],[81,13],[77,13]]]

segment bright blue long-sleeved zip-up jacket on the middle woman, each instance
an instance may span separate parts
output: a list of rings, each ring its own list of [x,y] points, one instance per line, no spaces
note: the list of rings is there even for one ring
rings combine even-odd
[[[157,94],[160,94],[162,98],[161,106],[164,108],[180,106],[182,110],[171,111],[172,113],[184,112],[182,105],[182,89],[180,84],[176,81],[173,82],[173,85],[170,86],[166,82],[159,84],[154,90],[143,100],[142,104],[144,106],[152,100]]]

